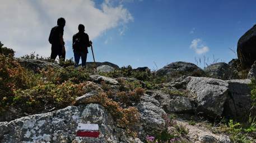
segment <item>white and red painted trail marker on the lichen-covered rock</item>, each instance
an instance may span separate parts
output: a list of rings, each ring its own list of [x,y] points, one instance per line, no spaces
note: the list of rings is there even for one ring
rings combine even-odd
[[[78,123],[76,136],[97,138],[99,135],[99,125]]]

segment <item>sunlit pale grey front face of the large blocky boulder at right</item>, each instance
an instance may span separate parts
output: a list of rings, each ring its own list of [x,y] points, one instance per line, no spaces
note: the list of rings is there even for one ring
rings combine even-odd
[[[197,97],[196,111],[212,119],[220,117],[228,96],[227,82],[207,77],[187,78],[189,78],[187,90]]]

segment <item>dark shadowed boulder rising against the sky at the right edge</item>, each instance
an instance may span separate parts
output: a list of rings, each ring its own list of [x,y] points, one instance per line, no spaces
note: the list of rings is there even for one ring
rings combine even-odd
[[[238,41],[238,59],[243,68],[250,68],[256,61],[256,25],[249,29]]]

